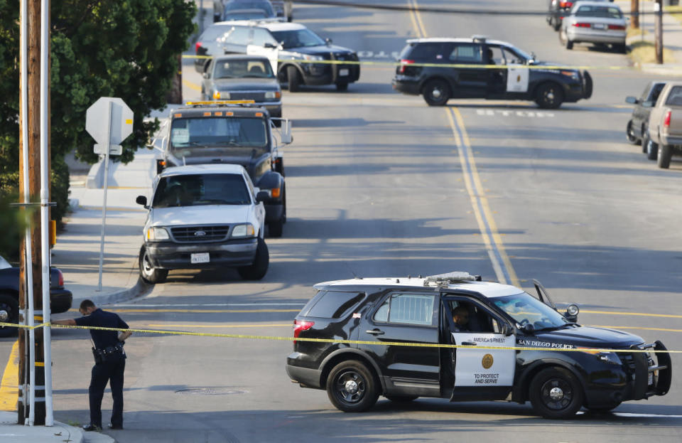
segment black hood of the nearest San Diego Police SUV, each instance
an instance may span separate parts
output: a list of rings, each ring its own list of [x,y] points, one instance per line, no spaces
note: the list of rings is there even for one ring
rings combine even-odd
[[[526,337],[526,340],[541,340],[589,348],[622,349],[644,343],[642,337],[632,333],[617,331],[616,329],[594,328],[592,326],[569,327],[556,331],[536,331],[533,335],[534,338],[529,336]]]

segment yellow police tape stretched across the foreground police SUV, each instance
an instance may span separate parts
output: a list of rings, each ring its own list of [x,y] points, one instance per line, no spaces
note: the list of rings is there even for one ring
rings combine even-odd
[[[656,351],[654,349],[611,349],[611,348],[551,348],[551,347],[533,347],[533,346],[470,346],[470,345],[448,345],[444,343],[408,343],[404,341],[364,341],[364,340],[339,340],[336,338],[302,338],[302,337],[281,337],[281,336],[254,336],[239,333],[210,333],[210,332],[191,332],[191,331],[168,331],[166,329],[121,329],[121,328],[103,328],[99,326],[67,326],[61,324],[42,323],[33,326],[27,326],[16,323],[1,323],[0,326],[13,326],[15,328],[23,329],[38,329],[45,326],[58,329],[94,329],[96,331],[129,331],[139,333],[158,333],[176,336],[201,336],[201,337],[220,337],[220,338],[250,338],[252,340],[276,340],[276,341],[313,341],[315,343],[345,343],[355,345],[378,345],[378,346],[413,346],[416,348],[463,348],[463,349],[491,349],[491,350],[508,350],[508,351],[566,351],[566,352],[620,352],[620,353],[682,353],[682,351]],[[573,346],[573,345],[568,345]]]

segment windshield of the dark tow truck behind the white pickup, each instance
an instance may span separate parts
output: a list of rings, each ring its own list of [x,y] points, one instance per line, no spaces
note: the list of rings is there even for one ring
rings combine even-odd
[[[171,149],[201,147],[264,148],[264,119],[251,117],[185,117],[171,124]]]

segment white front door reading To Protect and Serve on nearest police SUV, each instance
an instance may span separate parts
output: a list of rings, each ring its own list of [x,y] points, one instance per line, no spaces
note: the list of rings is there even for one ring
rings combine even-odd
[[[450,343],[472,346],[455,348],[450,401],[504,400],[511,392],[516,368],[516,351],[507,349],[515,347],[511,326],[472,297],[448,295],[443,298],[443,310]],[[455,325],[456,311],[468,313],[467,325]]]

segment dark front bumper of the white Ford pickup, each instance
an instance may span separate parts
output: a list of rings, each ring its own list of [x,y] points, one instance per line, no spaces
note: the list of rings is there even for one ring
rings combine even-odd
[[[254,262],[257,238],[181,244],[147,242],[146,249],[154,267],[160,269],[212,269],[216,267],[248,266]],[[191,255],[208,252],[210,261],[192,263]]]

